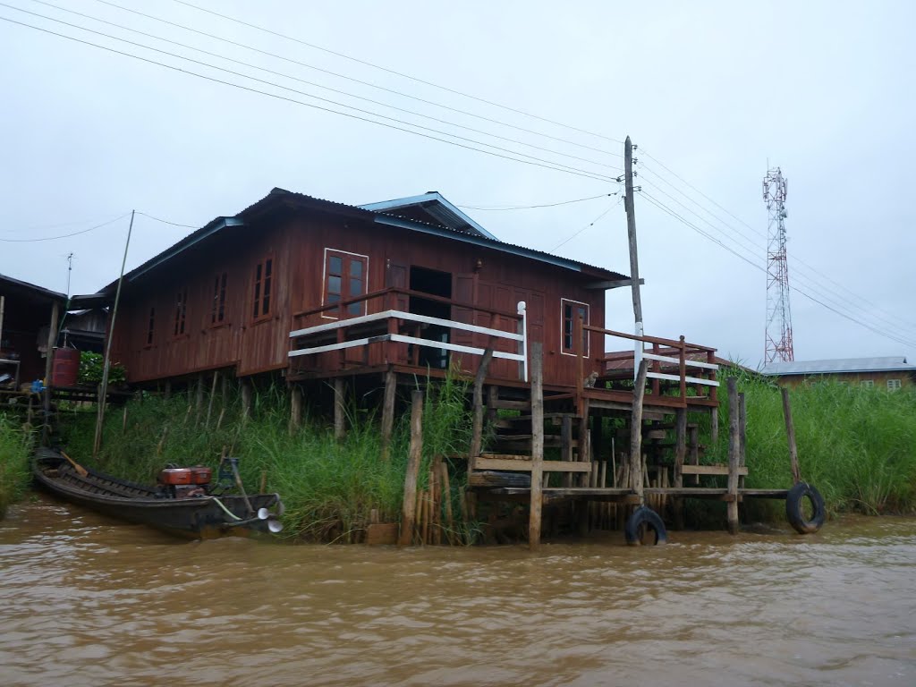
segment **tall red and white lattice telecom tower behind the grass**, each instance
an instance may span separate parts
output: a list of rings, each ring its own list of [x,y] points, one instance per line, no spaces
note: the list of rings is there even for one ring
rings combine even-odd
[[[780,168],[769,169],[763,180],[767,203],[767,336],[764,365],[791,362],[792,311],[789,305],[789,265],[786,262],[786,178]]]

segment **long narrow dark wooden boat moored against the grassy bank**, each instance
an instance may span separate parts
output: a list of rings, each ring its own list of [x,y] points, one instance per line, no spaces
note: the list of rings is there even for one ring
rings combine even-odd
[[[38,449],[32,461],[36,483],[55,496],[180,537],[213,539],[282,529],[277,518],[283,504],[277,494],[216,495],[205,487],[196,489],[196,496],[176,497],[174,489],[163,485],[137,485],[80,468],[46,448]]]

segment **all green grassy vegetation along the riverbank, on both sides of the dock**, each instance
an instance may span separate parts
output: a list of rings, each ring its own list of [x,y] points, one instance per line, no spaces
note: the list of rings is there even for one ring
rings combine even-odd
[[[738,376],[738,390],[747,398],[747,486],[791,485],[779,387],[759,376],[725,374]],[[726,428],[725,385],[722,391],[720,428]],[[466,453],[470,442],[468,382],[450,377],[430,384],[427,392],[418,488],[426,488],[433,459],[445,457],[453,512],[460,513],[465,463],[449,456]],[[916,511],[916,389],[889,392],[816,382],[791,389],[791,403],[802,479],[823,494],[829,515]],[[126,423],[121,409],[110,407],[98,460],[90,458],[94,407],[60,410],[61,443],[80,462],[144,483],[154,481],[166,463],[215,467],[225,450],[240,458],[249,491],[260,491],[263,480],[268,492],[283,498],[284,536],[290,539],[364,540],[373,511],[378,521],[398,522],[408,461],[409,408],[396,420],[387,460],[381,457],[374,410],[348,409],[349,430],[342,441],[334,439],[328,420],[314,410],[290,433],[289,394],[283,387],[256,389],[250,417],[244,421],[237,390],[225,397],[217,394],[212,404],[205,398],[200,407],[192,390],[171,398],[141,392],[127,403]],[[720,431],[718,444],[709,446],[708,416],[698,421],[700,441],[708,446],[703,463],[724,463],[727,431]],[[27,487],[29,446],[29,436],[11,417],[0,414],[0,512]],[[717,527],[715,523],[724,518],[719,506],[691,502],[689,523]],[[784,518],[781,502],[760,504],[747,515]],[[449,539],[474,543],[484,539],[484,529],[458,518]]]

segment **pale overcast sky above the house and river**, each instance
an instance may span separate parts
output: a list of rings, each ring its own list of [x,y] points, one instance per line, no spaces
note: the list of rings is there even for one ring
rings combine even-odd
[[[288,76],[32,0],[7,4],[591,175],[620,174],[610,169],[622,165],[616,155],[623,146],[617,141],[632,136],[643,191],[758,267],[766,264],[768,218],[761,180],[769,160],[789,180],[792,283],[902,340],[873,333],[793,291],[796,359],[908,355],[916,360],[916,209],[910,200],[916,4],[194,0],[300,41],[606,136],[601,138],[409,81],[174,0],[112,0],[288,60],[578,144],[573,146],[345,81],[98,0],[50,2]],[[7,7],[0,7],[0,17],[321,104]],[[10,239],[78,232],[131,209],[199,227],[214,216],[239,212],[275,186],[349,203],[436,190],[458,205],[474,206],[544,204],[618,191],[613,182],[204,81],[7,21],[0,21],[0,46],[0,239],[5,239],[0,272],[49,289],[66,289],[71,252],[72,292],[93,292],[115,278],[126,218],[55,241]],[[289,76],[589,161],[459,131]],[[466,212],[502,240],[551,250],[611,208],[555,252],[628,273],[627,225],[618,198]],[[636,205],[647,333],[684,334],[757,366],[764,349],[764,273],[640,194]],[[138,216],[127,267],[189,231]],[[628,291],[610,292],[608,326],[630,331],[632,318]]]

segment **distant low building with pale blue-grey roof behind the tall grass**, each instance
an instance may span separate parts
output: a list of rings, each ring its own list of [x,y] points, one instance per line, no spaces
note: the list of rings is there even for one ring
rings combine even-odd
[[[770,363],[760,371],[779,377],[780,384],[794,386],[805,381],[831,379],[843,384],[898,389],[916,383],[916,365],[904,357],[839,358],[836,360]]]

